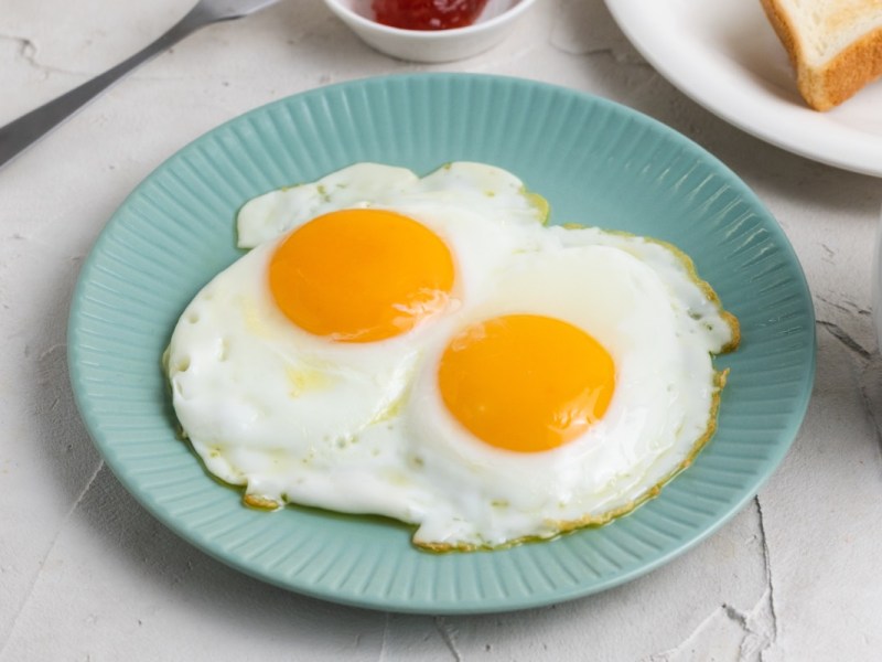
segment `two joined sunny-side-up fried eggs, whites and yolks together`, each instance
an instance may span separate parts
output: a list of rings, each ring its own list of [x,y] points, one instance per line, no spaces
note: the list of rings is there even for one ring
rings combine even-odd
[[[249,201],[250,250],[164,356],[251,505],[386,515],[432,549],[602,524],[712,435],[736,320],[664,243],[546,226],[515,175],[361,163]]]

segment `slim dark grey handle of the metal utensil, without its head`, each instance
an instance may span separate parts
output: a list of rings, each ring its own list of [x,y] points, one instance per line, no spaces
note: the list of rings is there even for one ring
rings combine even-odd
[[[172,25],[153,43],[146,46],[128,60],[120,62],[115,67],[83,83],[71,92],[63,94],[31,110],[26,115],[0,127],[0,168],[12,160],[29,146],[33,145],[50,130],[58,126],[66,118],[79,110],[98,94],[110,87],[131,70],[162,53],[165,49],[208,24],[211,17],[200,7],[194,7],[184,18]]]

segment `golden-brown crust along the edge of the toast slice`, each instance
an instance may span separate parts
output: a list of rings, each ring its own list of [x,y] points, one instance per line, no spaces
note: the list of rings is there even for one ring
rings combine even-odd
[[[776,0],[760,0],[796,71],[796,86],[815,110],[829,110],[882,77],[882,28],[871,30],[820,67],[807,64],[793,19]]]

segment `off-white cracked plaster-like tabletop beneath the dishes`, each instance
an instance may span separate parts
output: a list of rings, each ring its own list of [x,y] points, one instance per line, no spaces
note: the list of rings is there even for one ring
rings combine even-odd
[[[187,2],[6,0],[0,125],[115,64]],[[518,75],[611,97],[720,157],[777,216],[814,292],[818,373],[794,447],[710,540],[594,597],[482,617],[392,616],[239,575],[153,521],[73,406],[65,325],[79,265],[164,158],[255,106],[406,71]],[[0,662],[43,660],[876,660],[882,360],[870,271],[880,180],[770,147],[699,108],[601,0],[544,0],[498,47],[443,66],[377,54],[319,0],[208,28],[0,170]]]

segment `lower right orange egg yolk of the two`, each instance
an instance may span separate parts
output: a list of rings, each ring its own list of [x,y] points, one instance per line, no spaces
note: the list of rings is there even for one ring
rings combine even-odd
[[[448,409],[478,439],[536,452],[572,441],[603,416],[615,365],[596,340],[568,322],[512,314],[454,337],[438,383]]]

